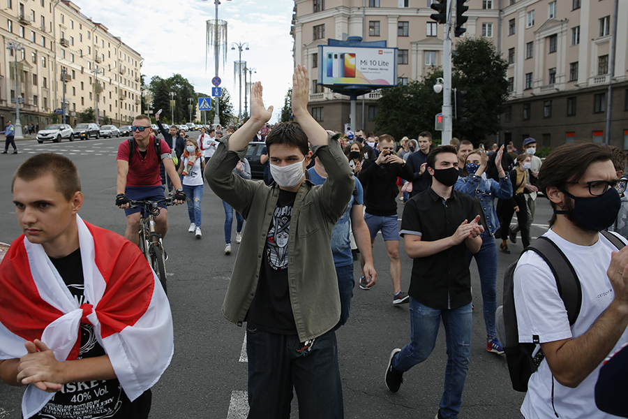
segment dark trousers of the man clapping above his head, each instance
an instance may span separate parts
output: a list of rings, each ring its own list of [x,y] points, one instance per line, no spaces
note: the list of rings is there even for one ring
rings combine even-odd
[[[297,335],[246,328],[248,418],[288,419],[292,388],[300,419],[343,418],[343,389],[333,330],[317,337],[311,352],[297,353]]]

